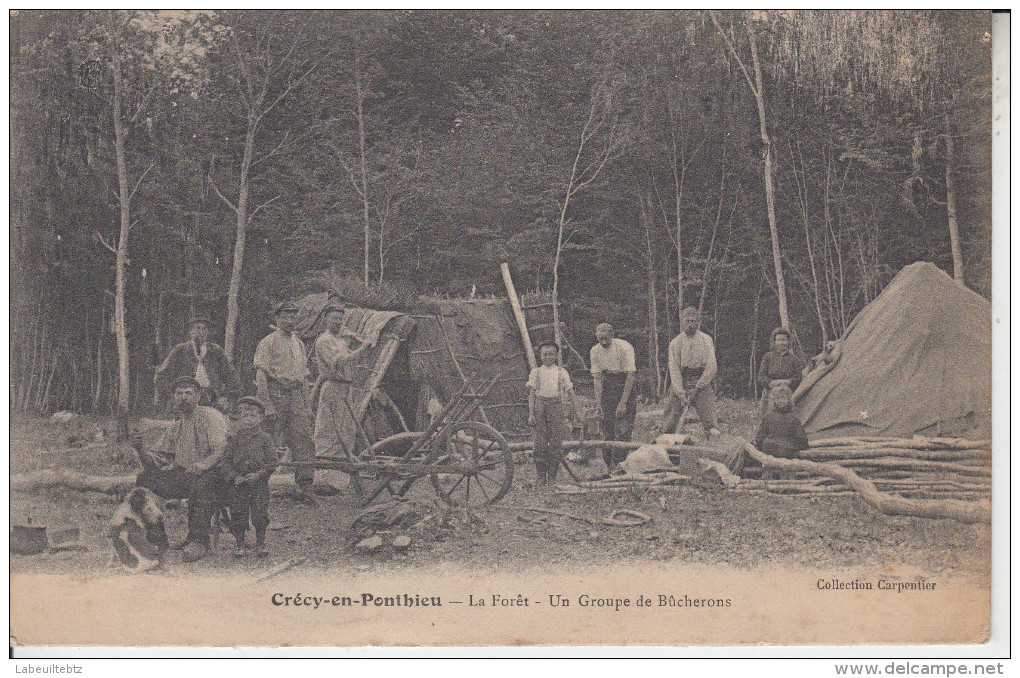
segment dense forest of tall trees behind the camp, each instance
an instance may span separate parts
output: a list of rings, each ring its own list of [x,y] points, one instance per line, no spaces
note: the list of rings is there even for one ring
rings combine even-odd
[[[10,405],[144,412],[195,308],[250,365],[316,276],[550,293],[661,394],[754,395],[905,265],[991,288],[986,11],[14,11]],[[584,353],[581,351],[581,353]]]

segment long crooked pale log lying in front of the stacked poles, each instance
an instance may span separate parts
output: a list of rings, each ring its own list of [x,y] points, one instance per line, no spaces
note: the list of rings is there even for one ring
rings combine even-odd
[[[895,497],[879,491],[875,483],[836,464],[819,464],[818,462],[800,459],[778,459],[771,455],[766,455],[750,442],[745,442],[744,449],[752,459],[758,461],[758,463],[766,468],[810,471],[818,475],[842,480],[853,487],[865,502],[890,516],[951,518],[963,523],[991,522],[991,507],[986,502],[909,500],[903,497]]]

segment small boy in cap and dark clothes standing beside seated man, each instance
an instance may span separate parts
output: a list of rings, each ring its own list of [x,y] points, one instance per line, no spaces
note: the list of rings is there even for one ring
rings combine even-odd
[[[246,396],[238,401],[237,430],[226,444],[221,464],[226,485],[226,505],[231,509],[231,531],[237,540],[237,558],[248,553],[245,532],[249,516],[255,528],[255,555],[269,555],[265,530],[269,525],[269,476],[276,469],[276,450],[272,436],[262,429],[265,406],[257,398]]]

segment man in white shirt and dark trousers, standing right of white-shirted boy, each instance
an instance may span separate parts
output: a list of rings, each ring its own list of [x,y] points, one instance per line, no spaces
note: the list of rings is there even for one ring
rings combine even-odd
[[[638,412],[634,398],[634,348],[629,342],[613,336],[608,322],[595,328],[598,344],[592,347],[592,376],[595,380],[595,402],[602,410],[602,434],[607,440],[629,440]],[[606,466],[626,458],[625,452],[604,451]]]

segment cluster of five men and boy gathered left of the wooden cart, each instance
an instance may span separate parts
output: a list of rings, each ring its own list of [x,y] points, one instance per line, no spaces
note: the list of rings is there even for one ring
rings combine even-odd
[[[280,304],[274,310],[275,327],[255,350],[254,397],[239,398],[237,371],[223,350],[208,341],[208,316],[192,317],[188,341],[175,346],[156,370],[156,387],[169,399],[173,423],[149,449],[141,435],[136,435],[134,442],[143,467],[137,484],[163,499],[188,500],[188,534],[177,544],[184,550],[185,561],[205,556],[213,515],[220,507],[236,504],[232,497],[239,493],[238,487],[244,489],[245,483],[250,485],[246,499],[257,546],[264,543],[271,473],[264,460],[269,454],[262,450],[265,438],[254,433],[239,434],[245,430],[245,421],[264,418],[275,438],[270,438],[271,453],[284,447],[290,450],[293,461],[298,462],[296,499],[308,505],[316,504],[312,493],[314,470],[301,463],[313,462],[317,448],[325,454],[338,445],[353,444],[353,417],[335,416],[330,408],[346,400],[353,381],[350,365],[366,347],[352,350],[350,333],[343,328],[343,309],[332,311],[327,328],[315,344],[320,374],[317,388],[321,388],[321,395],[313,442],[310,371],[304,342],[295,332],[297,316],[298,307],[292,303]],[[232,426],[224,412],[235,405],[236,421]],[[249,437],[252,439],[247,440]],[[237,450],[232,456],[228,442],[234,440],[247,440],[251,444],[247,447],[258,442],[258,450],[250,460],[243,459],[245,450]],[[245,525],[248,518],[245,512]],[[240,529],[243,535],[246,527],[234,522],[237,524],[232,529],[236,534]],[[264,555],[264,546],[258,553]]]

